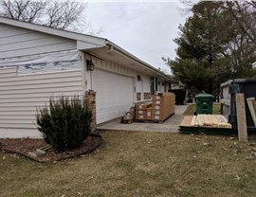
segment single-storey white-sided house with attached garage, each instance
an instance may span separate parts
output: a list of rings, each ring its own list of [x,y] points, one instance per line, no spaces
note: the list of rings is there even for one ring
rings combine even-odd
[[[106,39],[0,17],[0,132],[35,130],[36,107],[50,96],[94,90],[99,124],[171,82]]]

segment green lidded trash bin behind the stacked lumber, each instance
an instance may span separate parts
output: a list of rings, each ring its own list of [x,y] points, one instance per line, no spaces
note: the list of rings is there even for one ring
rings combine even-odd
[[[199,94],[196,99],[196,114],[212,115],[212,103],[214,96],[210,94]]]

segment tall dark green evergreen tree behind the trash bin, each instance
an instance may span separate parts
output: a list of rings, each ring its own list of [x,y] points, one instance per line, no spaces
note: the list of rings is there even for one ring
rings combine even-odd
[[[192,7],[193,15],[185,25],[179,27],[180,35],[174,40],[177,58],[166,61],[176,80],[189,89],[215,94],[221,82],[253,67],[255,56],[246,49],[247,37],[242,36],[223,4],[200,1]]]

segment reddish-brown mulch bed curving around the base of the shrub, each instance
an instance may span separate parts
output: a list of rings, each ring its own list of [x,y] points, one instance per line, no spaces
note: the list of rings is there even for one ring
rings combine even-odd
[[[90,153],[98,149],[101,145],[101,135],[91,134],[82,143],[79,148],[65,151],[55,152],[52,149],[46,151],[46,154],[37,156],[36,158],[27,155],[28,152],[35,152],[38,149],[46,146],[44,139],[33,139],[33,138],[7,138],[0,139],[0,150],[2,152],[18,153],[27,156],[30,159],[39,162],[52,162],[61,161],[64,159],[78,157],[82,154]]]

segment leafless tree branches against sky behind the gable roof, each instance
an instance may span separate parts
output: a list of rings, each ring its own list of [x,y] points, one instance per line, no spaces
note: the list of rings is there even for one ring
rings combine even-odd
[[[86,8],[87,3],[76,0],[0,0],[0,16],[94,34],[91,25],[85,20]]]

